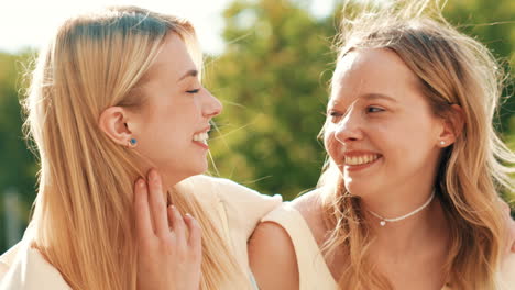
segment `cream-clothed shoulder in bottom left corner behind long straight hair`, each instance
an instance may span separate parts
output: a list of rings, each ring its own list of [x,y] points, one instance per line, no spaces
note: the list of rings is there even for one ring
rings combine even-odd
[[[0,289],[41,290],[72,289],[43,255],[23,241],[0,257],[6,272],[0,277]]]

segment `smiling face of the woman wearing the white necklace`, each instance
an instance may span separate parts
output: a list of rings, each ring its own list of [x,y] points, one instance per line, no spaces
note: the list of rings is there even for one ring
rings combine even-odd
[[[340,59],[327,114],[326,149],[352,194],[434,183],[443,122],[395,53],[355,49]]]

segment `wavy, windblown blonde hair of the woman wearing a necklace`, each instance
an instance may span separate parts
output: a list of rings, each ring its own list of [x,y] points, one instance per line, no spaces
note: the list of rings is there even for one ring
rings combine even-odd
[[[352,13],[344,5],[338,62],[352,49],[390,49],[417,76],[435,115],[450,118],[452,104],[463,110],[463,131],[442,153],[435,185],[450,224],[445,278],[452,289],[496,289],[505,236],[497,191],[515,188],[509,178],[515,155],[493,129],[502,93],[501,66],[486,47],[445,21],[438,1],[358,9]],[[325,255],[330,259],[335,250],[342,250],[348,263],[340,289],[392,289],[385,277],[370,271],[373,233],[360,199],[344,189],[330,158],[318,186],[325,194],[326,223],[332,228]]]

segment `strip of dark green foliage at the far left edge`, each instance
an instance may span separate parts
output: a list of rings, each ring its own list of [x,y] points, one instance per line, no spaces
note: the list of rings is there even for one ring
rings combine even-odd
[[[19,55],[0,53],[0,224],[7,221],[23,230],[29,220],[30,204],[35,197],[36,163],[26,149],[22,134],[22,114],[19,96],[25,88],[21,71],[30,52]],[[9,194],[11,192],[12,194]],[[6,204],[6,203],[10,204]],[[9,210],[7,216],[6,210]],[[9,219],[8,219],[9,217]],[[21,233],[19,233],[19,236]],[[12,241],[9,241],[12,244]],[[0,252],[8,247],[8,233],[0,231]]]

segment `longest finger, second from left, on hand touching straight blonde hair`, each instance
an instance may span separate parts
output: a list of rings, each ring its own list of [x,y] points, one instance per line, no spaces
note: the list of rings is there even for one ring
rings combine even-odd
[[[155,169],[149,172],[150,209],[154,221],[154,230],[157,236],[169,232],[166,203],[164,200],[161,177]]]

